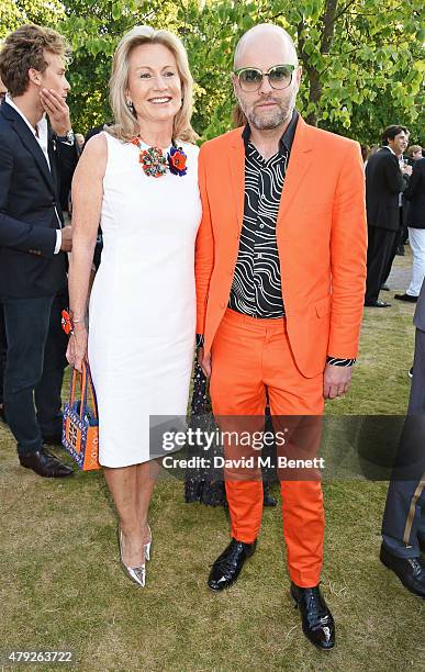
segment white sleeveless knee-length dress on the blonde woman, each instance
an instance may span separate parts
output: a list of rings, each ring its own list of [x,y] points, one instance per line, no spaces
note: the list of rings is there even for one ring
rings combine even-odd
[[[152,459],[149,415],[186,416],[195,332],[198,147],[180,177],[147,177],[139,149],[104,133],[103,251],[89,306],[88,356],[99,407],[99,461]],[[147,145],[146,145],[147,147]]]

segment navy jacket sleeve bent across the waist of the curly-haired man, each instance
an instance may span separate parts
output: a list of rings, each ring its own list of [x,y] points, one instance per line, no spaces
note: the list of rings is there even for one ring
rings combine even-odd
[[[29,254],[53,257],[56,231],[21,222],[7,214],[9,191],[13,175],[13,155],[7,143],[0,142],[0,246]]]

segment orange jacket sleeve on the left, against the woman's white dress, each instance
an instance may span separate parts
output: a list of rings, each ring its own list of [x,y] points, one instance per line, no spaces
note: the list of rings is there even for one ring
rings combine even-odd
[[[201,147],[198,164],[199,190],[201,194],[202,219],[198,231],[194,273],[197,282],[197,334],[205,328],[205,314],[211,275],[214,268],[214,236],[211,224],[211,211],[206,191],[205,158]]]

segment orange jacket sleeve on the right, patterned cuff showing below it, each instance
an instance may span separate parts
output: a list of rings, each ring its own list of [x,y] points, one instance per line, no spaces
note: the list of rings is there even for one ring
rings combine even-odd
[[[367,225],[360,148],[350,143],[335,190],[331,232],[328,356],[357,357],[366,284]]]

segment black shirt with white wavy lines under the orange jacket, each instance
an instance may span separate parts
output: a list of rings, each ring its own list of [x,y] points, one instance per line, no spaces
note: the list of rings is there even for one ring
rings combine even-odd
[[[268,160],[249,142],[249,124],[242,134],[245,144],[244,221],[228,307],[260,320],[284,316],[276,225],[298,119],[299,113],[294,110],[280,138],[278,153]],[[197,345],[203,345],[200,335]],[[355,361],[327,357],[328,363],[339,367],[351,366]]]

